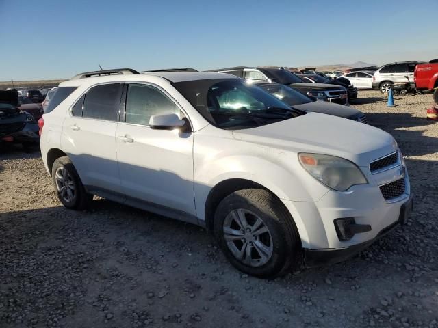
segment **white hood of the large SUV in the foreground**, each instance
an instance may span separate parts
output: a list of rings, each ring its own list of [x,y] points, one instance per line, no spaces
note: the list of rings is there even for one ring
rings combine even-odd
[[[394,138],[381,129],[320,113],[307,113],[257,128],[236,130],[233,137],[293,153],[339,156],[361,167],[368,167],[370,162],[397,148]]]

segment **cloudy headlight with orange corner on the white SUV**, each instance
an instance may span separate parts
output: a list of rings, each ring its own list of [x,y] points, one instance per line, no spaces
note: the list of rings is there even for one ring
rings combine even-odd
[[[368,183],[357,165],[341,157],[300,153],[298,159],[313,178],[337,191]]]

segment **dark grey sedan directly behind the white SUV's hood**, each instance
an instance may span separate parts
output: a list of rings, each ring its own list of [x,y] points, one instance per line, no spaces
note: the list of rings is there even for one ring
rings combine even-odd
[[[325,101],[315,101],[303,94],[300,94],[300,92],[295,91],[291,87],[287,87],[286,85],[279,83],[256,82],[254,85],[261,87],[261,89],[269,92],[272,94],[272,96],[279,98],[281,101],[285,102],[287,105],[290,105],[294,109],[299,109],[300,111],[306,112],[334,115],[339,118],[347,118],[348,120],[368,124],[365,114],[357,109]]]

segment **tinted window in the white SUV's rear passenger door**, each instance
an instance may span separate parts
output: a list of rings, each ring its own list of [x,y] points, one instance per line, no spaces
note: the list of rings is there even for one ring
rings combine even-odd
[[[86,93],[85,101],[83,102],[82,116],[84,118],[117,121],[121,96],[122,85],[120,83],[92,87]]]

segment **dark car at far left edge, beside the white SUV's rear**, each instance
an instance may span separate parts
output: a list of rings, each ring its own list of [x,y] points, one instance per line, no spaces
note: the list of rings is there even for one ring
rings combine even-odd
[[[23,146],[38,145],[38,125],[34,117],[18,109],[16,90],[0,91],[0,144],[21,143]]]

